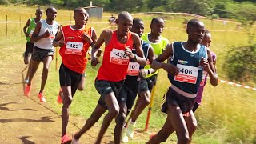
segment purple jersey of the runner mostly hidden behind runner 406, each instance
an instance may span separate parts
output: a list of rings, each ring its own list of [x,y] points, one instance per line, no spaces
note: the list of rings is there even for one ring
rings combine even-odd
[[[214,54],[214,52],[210,52],[211,58],[213,58],[213,62],[216,61],[217,55]],[[200,104],[202,102],[202,93],[203,93],[203,89],[206,86],[206,81],[207,81],[207,73],[206,71],[203,71],[202,74],[202,81],[200,82],[200,86],[198,88],[198,94],[197,97],[195,98],[195,102],[197,102],[198,104]]]

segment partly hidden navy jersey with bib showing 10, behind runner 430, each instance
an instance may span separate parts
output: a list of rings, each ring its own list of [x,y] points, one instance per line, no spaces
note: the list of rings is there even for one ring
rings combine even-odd
[[[150,43],[141,40],[141,46],[142,46],[142,50],[143,50],[143,53],[144,53],[144,57],[147,59],[147,62],[148,62],[148,54],[149,54],[149,49],[150,49]],[[137,54],[135,48],[132,49],[132,52],[133,52],[133,54]],[[134,62],[133,60],[130,59],[128,70],[127,70],[127,76],[136,76],[136,77],[138,77],[139,69],[142,69],[142,68],[143,67],[140,66],[138,64],[138,62]]]

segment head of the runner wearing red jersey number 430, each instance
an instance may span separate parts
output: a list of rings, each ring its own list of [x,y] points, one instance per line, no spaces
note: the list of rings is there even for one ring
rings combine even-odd
[[[118,19],[116,20],[118,25],[118,34],[126,35],[128,31],[133,26],[133,18],[127,11],[122,11],[118,14]]]

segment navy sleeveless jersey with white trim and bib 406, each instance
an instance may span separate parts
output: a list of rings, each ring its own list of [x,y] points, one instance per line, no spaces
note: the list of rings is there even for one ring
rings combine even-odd
[[[173,57],[168,62],[177,66],[179,73],[174,77],[168,74],[170,83],[188,94],[197,94],[203,69],[199,63],[202,57],[207,59],[206,46],[198,45],[195,52],[186,50],[183,42],[173,42],[172,47]]]

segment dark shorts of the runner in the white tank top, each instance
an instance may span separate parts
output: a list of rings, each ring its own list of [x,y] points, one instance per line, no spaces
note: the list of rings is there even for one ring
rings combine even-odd
[[[45,50],[45,49],[40,49],[37,46],[34,46],[34,50],[32,53],[33,61],[42,62],[43,59],[46,58],[47,56],[54,56],[54,50]]]

